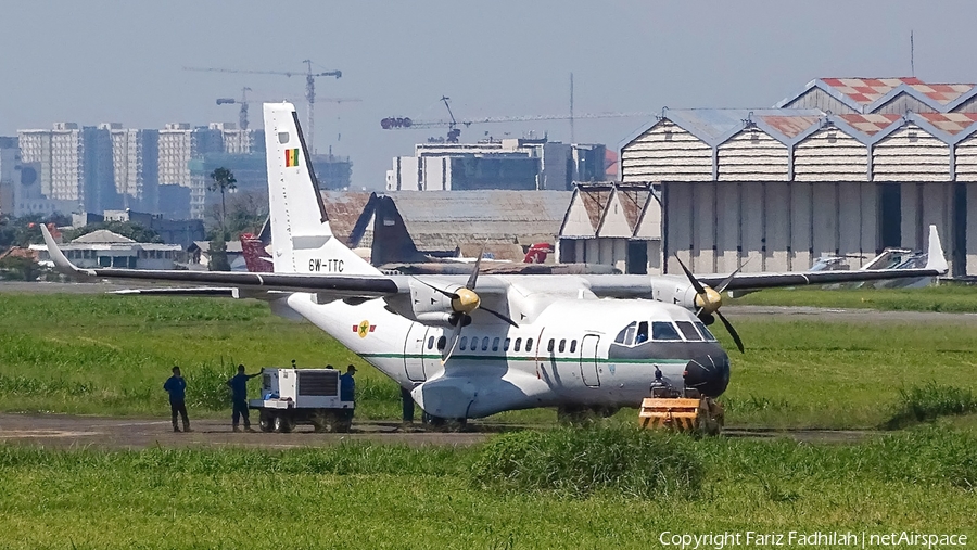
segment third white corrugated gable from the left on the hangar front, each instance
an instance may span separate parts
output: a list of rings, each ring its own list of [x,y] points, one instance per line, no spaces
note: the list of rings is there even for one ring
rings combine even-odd
[[[838,130],[819,130],[794,148],[795,181],[864,181],[868,148]]]

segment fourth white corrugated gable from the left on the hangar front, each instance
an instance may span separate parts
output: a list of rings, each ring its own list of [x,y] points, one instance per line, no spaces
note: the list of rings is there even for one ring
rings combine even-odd
[[[950,145],[909,125],[875,144],[872,172],[873,181],[949,181]]]

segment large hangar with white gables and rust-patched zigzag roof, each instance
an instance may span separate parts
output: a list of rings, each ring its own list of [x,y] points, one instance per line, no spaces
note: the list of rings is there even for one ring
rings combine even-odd
[[[865,258],[858,268],[887,246],[925,248],[934,223],[951,273],[977,274],[972,84],[824,78],[774,108],[665,110],[625,141],[621,175],[661,187],[644,215],[661,217],[662,271],[675,256],[703,273],[804,270],[822,255]]]

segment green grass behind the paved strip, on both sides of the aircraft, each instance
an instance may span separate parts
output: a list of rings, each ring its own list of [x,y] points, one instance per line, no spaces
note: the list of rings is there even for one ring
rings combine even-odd
[[[748,353],[731,354],[733,381],[723,401],[733,425],[876,426],[891,415],[901,388],[936,382],[977,389],[973,376],[961,374],[977,363],[970,327],[762,319],[738,319],[736,327]],[[716,334],[735,349],[724,331]],[[162,384],[179,364],[192,414],[223,415],[229,410],[224,381],[236,364],[252,372],[295,359],[356,364],[359,418],[399,415],[393,382],[313,325],[275,317],[256,302],[3,294],[0,341],[5,411],[165,417]],[[258,382],[251,384],[256,393]],[[624,410],[619,418],[631,422],[634,414]],[[496,420],[554,417],[517,411]]]

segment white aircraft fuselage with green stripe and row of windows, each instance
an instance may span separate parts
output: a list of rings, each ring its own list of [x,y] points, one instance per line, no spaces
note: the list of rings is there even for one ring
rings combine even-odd
[[[686,309],[654,300],[556,298],[519,328],[475,315],[444,366],[440,348],[451,331],[393,314],[383,299],[316,304],[314,295],[296,293],[287,300],[402,387],[413,388],[428,413],[444,418],[535,407],[636,407],[647,397],[656,368],[681,386],[690,364],[706,363],[706,372],[696,372],[710,378],[716,395],[728,381],[728,358],[708,331],[706,337],[693,331],[691,340],[678,333],[670,341],[623,341],[629,323],[644,322],[647,332],[655,321],[697,322]]]

